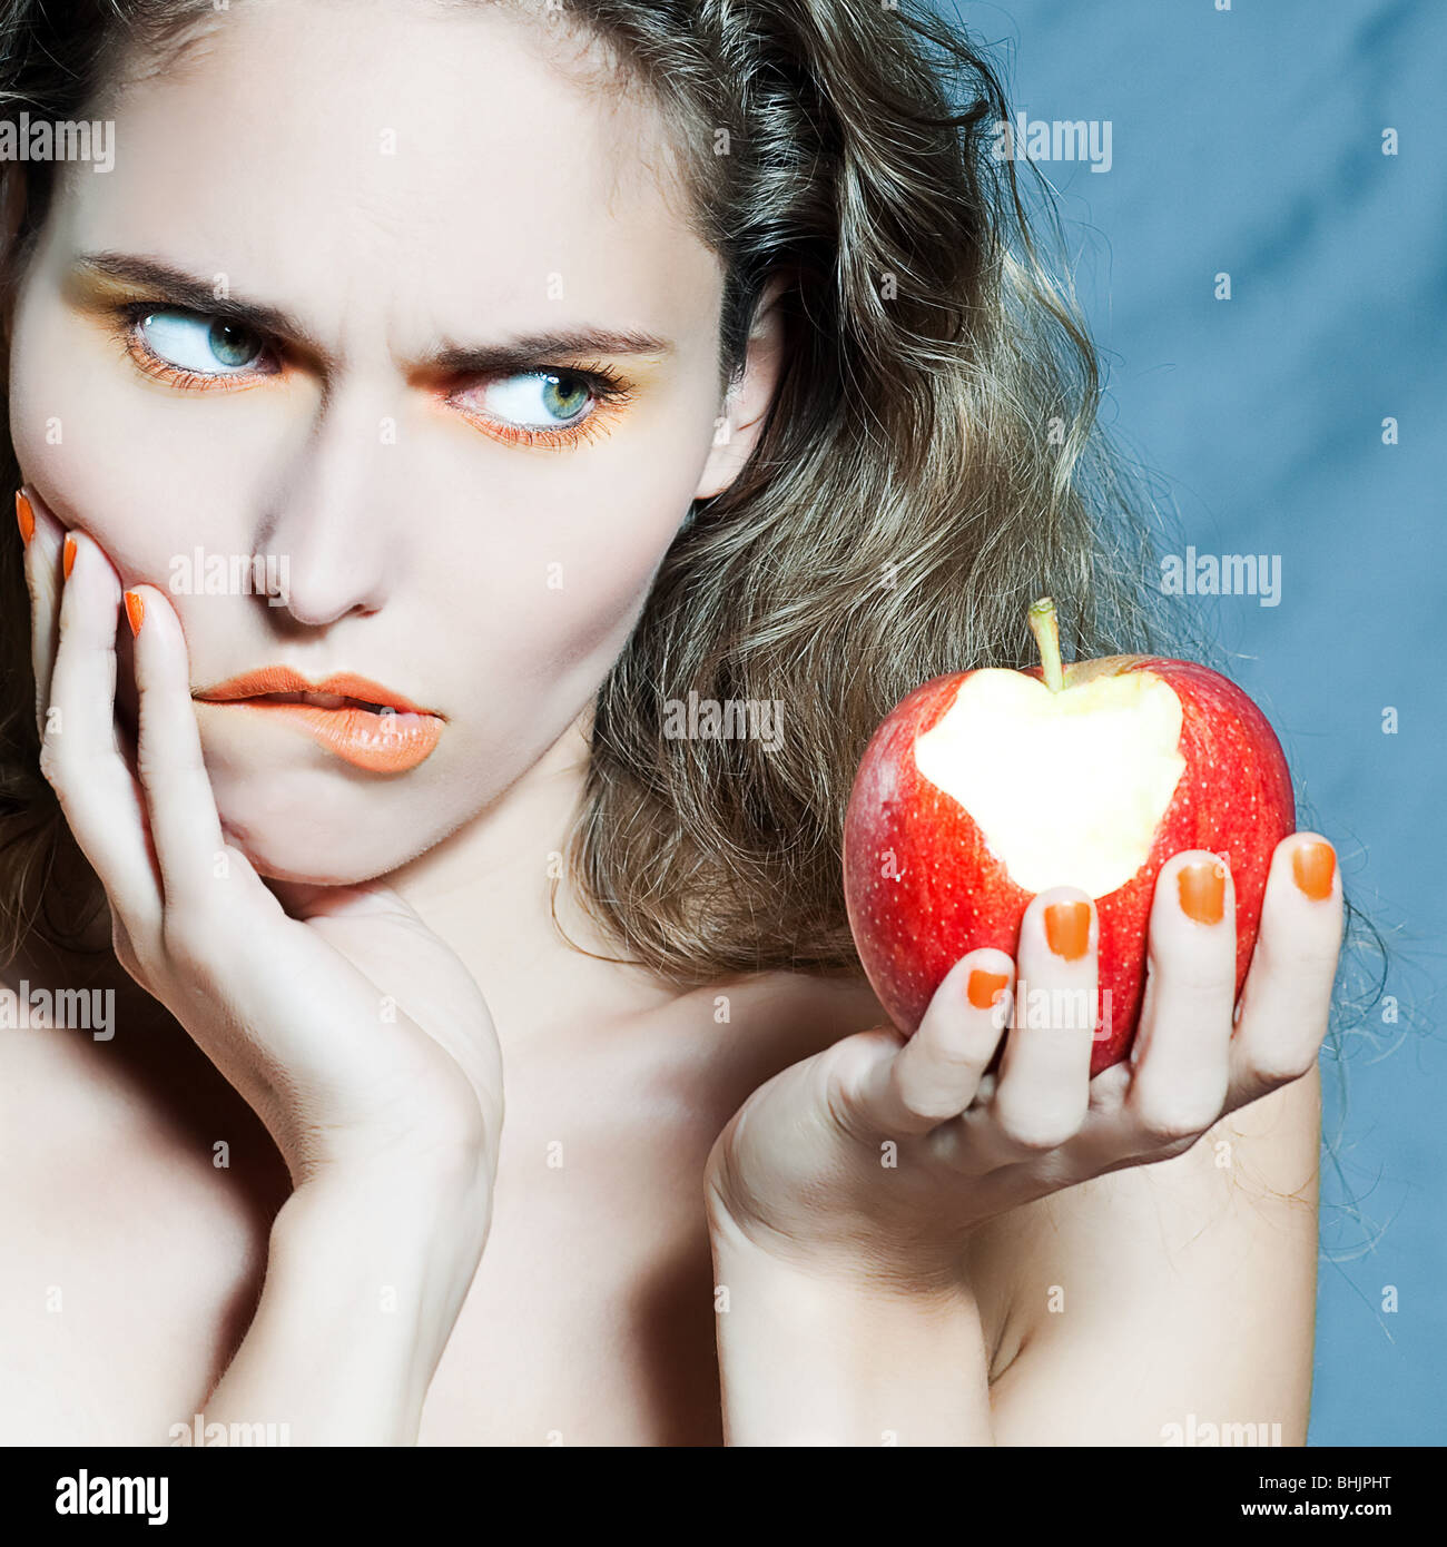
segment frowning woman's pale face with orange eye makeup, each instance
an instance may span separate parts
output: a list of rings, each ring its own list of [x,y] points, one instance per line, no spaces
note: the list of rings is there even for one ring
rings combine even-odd
[[[170,594],[195,690],[353,673],[441,716],[399,770],[274,704],[198,702],[266,874],[382,874],[484,809],[737,467],[723,272],[659,121],[557,48],[491,8],[237,5],[85,111],[115,119],[111,172],[59,169],[12,317],[26,481]],[[283,605],[251,588],[268,565]]]

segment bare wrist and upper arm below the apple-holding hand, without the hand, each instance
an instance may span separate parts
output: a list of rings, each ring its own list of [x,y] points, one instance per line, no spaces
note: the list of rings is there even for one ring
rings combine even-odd
[[[975,1292],[823,1279],[715,1228],[729,1445],[1303,1445],[1317,1261],[1315,1071],[1185,1154],[984,1227],[1017,1284],[989,1385]],[[1280,1428],[1275,1428],[1278,1425]]]

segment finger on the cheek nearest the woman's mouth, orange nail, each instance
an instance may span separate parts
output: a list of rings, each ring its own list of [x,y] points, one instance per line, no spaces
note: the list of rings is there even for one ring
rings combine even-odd
[[[226,848],[201,756],[186,637],[164,591],[133,586],[125,616],[135,636],[136,772],[167,908],[197,908],[218,885]]]

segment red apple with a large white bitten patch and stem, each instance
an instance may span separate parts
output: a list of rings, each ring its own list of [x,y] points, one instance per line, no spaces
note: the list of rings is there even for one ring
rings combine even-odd
[[[1161,866],[1181,849],[1230,863],[1240,995],[1295,803],[1266,716],[1220,673],[1158,656],[1062,667],[1048,597],[1031,628],[1040,667],[935,678],[874,732],[845,818],[845,899],[874,993],[912,1033],[966,951],[1014,956],[1031,899],[1080,886],[1100,920],[1096,1075],[1136,1032]]]

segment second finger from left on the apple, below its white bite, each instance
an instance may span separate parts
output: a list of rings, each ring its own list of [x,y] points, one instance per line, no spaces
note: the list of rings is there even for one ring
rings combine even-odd
[[[1094,903],[1076,886],[1052,886],[1025,910],[998,1083],[989,1108],[963,1118],[1001,1159],[1054,1149],[1085,1118],[1099,1021],[1097,939]]]

